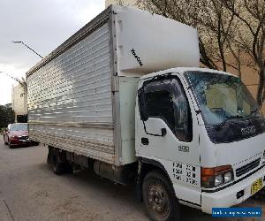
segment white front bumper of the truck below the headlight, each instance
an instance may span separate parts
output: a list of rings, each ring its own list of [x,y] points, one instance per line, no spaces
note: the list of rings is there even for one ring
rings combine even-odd
[[[205,213],[211,214],[212,208],[215,207],[231,207],[246,201],[251,194],[251,186],[256,179],[261,178],[263,180],[263,186],[265,186],[265,167],[262,167],[259,171],[254,172],[246,179],[242,179],[238,183],[231,187],[226,187],[220,191],[214,193],[201,193],[201,210]],[[244,190],[244,195],[237,199],[237,193]]]

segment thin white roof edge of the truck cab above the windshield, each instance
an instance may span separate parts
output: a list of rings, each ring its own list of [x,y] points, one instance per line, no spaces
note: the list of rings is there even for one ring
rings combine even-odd
[[[178,72],[180,74],[183,74],[184,72],[214,72],[214,73],[219,73],[219,74],[224,74],[224,75],[231,75],[231,76],[235,76],[234,74],[231,74],[230,72],[223,72],[223,71],[217,71],[217,70],[213,70],[213,69],[208,69],[208,68],[199,68],[199,67],[175,67],[175,68],[170,68],[161,72],[152,72],[149,74],[146,74],[144,76],[142,76],[140,79],[148,79],[148,78],[153,78],[157,75],[162,75],[164,73],[170,73],[170,72]]]

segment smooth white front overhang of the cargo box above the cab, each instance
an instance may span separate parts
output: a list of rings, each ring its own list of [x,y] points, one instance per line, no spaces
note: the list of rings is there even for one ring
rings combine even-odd
[[[197,30],[172,19],[129,7],[117,10],[119,74],[199,67]]]

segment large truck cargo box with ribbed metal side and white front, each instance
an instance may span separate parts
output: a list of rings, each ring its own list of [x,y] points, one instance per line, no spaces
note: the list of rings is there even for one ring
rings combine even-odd
[[[194,28],[110,5],[27,72],[30,139],[131,164],[139,77],[176,66],[199,66]]]

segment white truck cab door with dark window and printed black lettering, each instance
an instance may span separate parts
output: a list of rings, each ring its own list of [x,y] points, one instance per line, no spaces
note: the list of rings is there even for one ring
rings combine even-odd
[[[137,154],[163,164],[178,199],[201,205],[201,166],[196,115],[177,76],[140,88]]]

